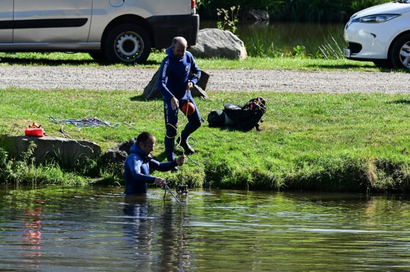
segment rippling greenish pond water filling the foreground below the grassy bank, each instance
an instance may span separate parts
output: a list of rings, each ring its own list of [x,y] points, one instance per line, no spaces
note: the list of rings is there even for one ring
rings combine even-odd
[[[410,271],[408,196],[122,191],[0,188],[0,271]]]

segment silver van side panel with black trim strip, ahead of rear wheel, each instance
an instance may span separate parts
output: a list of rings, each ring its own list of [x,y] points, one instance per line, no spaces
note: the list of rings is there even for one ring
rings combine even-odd
[[[93,0],[14,0],[13,42],[87,42],[92,3]]]

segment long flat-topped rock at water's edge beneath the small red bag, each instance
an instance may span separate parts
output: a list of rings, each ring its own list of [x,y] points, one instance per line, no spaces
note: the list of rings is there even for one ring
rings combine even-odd
[[[84,140],[72,140],[61,137],[32,137],[0,135],[1,143],[11,157],[19,158],[28,150],[30,142],[36,144],[32,157],[36,164],[54,160],[64,169],[80,169],[87,159],[96,159],[101,153],[101,147]]]

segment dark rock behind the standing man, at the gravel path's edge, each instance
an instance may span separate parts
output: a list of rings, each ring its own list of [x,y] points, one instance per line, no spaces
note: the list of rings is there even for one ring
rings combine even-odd
[[[158,74],[159,74],[159,70],[157,72],[155,72],[155,74],[153,75],[153,78],[151,79],[151,81],[144,88],[144,92],[142,93],[142,96],[145,97],[146,99],[153,99],[153,98],[162,97],[161,93],[159,92],[159,90],[157,88]],[[198,83],[191,90],[191,95],[193,97],[208,98],[208,95],[205,92],[206,87],[208,85],[208,80],[209,80],[209,74],[202,70],[201,71],[201,77],[200,77]]]

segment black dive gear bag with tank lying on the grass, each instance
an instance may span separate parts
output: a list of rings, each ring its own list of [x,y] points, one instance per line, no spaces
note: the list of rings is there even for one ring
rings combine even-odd
[[[252,128],[260,130],[258,123],[263,122],[262,116],[266,112],[266,101],[262,97],[253,98],[244,106],[223,104],[223,107],[223,110],[212,110],[208,114],[209,126],[237,126],[243,131]]]

